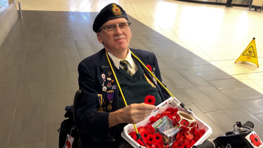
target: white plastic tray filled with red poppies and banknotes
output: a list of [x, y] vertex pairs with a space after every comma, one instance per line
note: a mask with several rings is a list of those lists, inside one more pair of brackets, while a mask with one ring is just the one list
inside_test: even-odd
[[[175, 98], [171, 97], [156, 106], [156, 109], [145, 120], [136, 124], [146, 148], [191, 148], [193, 145], [203, 143], [212, 134], [211, 127], [191, 111], [189, 112], [197, 123], [194, 127], [188, 121], [180, 120], [178, 113], [186, 111], [181, 106], [177, 108], [170, 106], [172, 99]], [[149, 98], [146, 97], [145, 101], [147, 100]], [[124, 127], [122, 137], [134, 148], [145, 147], [143, 141], [137, 139], [133, 124]]]

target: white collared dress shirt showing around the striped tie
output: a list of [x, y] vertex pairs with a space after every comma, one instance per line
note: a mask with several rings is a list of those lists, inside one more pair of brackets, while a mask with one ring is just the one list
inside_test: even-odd
[[112, 59], [114, 65], [116, 68], [122, 68], [123, 69], [123, 66], [120, 64], [120, 61], [122, 60], [126, 60], [127, 61], [127, 64], [128, 64], [128, 68], [130, 70], [130, 72], [134, 75], [135, 72], [138, 70], [138, 65], [136, 65], [133, 61], [133, 58], [131, 58], [131, 50], [129, 49], [129, 52], [126, 56], [125, 59], [118, 59], [117, 57], [115, 57], [113, 54], [107, 52], [109, 57]]

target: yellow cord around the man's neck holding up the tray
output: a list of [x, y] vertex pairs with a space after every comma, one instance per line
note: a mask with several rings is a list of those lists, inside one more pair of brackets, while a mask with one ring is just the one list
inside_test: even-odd
[[[147, 71], [159, 82], [159, 84], [161, 84], [161, 86], [163, 86], [163, 88], [174, 98], [174, 96], [170, 93], [170, 91], [159, 81], [158, 78], [156, 78], [156, 76], [143, 64], [143, 62], [141, 62], [141, 60], [138, 57], [136, 57], [136, 55], [134, 55], [132, 52], [131, 52], [131, 54], [144, 66], [144, 68], [147, 69]], [[120, 89], [120, 93], [122, 94], [122, 98], [123, 98], [124, 104], [125, 104], [125, 106], [128, 106], [127, 103], [126, 103], [126, 100], [124, 98], [124, 95], [122, 93], [122, 89], [120, 88], [119, 81], [118, 81], [118, 79], [117, 79], [117, 77], [115, 75], [115, 72], [114, 72], [113, 68], [112, 68], [112, 64], [110, 63], [110, 59], [109, 59], [107, 51], [106, 51], [106, 56], [107, 56], [107, 59], [108, 59], [109, 64], [110, 64], [110, 68], [112, 69], [112, 73], [114, 75], [115, 81], [117, 82], [117, 85], [118, 85], [118, 87]], [[135, 129], [136, 133], [138, 134], [139, 132], [138, 132], [138, 129], [137, 129], [136, 125], [133, 124], [133, 126], [134, 126], [134, 129]]]

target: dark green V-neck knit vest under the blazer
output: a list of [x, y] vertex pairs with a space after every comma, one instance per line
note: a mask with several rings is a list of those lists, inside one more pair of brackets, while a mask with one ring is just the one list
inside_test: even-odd
[[[155, 97], [155, 106], [161, 104], [162, 99], [158, 89], [148, 82], [144, 75], [144, 70], [135, 60], [134, 63], [138, 65], [138, 70], [133, 76], [130, 76], [122, 68], [116, 69], [117, 79], [127, 105], [143, 103], [144, 98], [148, 95]], [[121, 93], [119, 93], [119, 105], [120, 109], [125, 107]]]

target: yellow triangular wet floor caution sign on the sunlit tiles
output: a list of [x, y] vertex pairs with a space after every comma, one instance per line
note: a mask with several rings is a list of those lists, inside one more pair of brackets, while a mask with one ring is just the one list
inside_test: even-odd
[[236, 62], [239, 62], [239, 61], [251, 62], [251, 63], [256, 64], [257, 67], [259, 67], [259, 62], [257, 61], [257, 48], [256, 48], [255, 39], [256, 38], [253, 38], [251, 40], [247, 48], [241, 53], [241, 55], [236, 60]]

